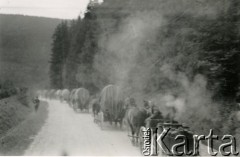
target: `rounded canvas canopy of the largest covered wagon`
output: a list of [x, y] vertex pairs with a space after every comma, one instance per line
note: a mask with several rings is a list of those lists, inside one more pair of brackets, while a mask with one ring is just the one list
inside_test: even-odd
[[101, 109], [103, 112], [108, 110], [112, 116], [117, 117], [123, 110], [123, 100], [121, 89], [116, 85], [108, 85], [103, 88], [101, 93]]

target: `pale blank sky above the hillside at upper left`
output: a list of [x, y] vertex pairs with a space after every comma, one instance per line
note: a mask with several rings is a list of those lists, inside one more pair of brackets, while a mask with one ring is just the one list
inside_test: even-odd
[[21, 14], [74, 19], [85, 12], [89, 0], [0, 0], [0, 14]]

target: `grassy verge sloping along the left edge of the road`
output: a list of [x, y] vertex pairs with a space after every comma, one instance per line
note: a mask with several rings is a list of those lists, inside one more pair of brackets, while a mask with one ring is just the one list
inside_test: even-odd
[[23, 155], [41, 129], [48, 116], [48, 103], [41, 101], [37, 112], [31, 113], [26, 120], [0, 139], [1, 155]]

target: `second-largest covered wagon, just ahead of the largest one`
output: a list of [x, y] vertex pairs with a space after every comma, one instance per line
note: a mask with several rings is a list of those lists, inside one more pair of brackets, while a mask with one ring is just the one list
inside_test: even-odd
[[78, 88], [74, 93], [74, 109], [84, 109], [88, 110], [89, 108], [90, 94], [85, 88]]

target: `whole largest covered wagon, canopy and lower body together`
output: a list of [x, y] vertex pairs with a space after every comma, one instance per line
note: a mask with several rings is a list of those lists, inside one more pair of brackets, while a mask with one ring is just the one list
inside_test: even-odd
[[124, 112], [123, 93], [116, 85], [103, 88], [100, 100], [104, 121], [122, 123]]

